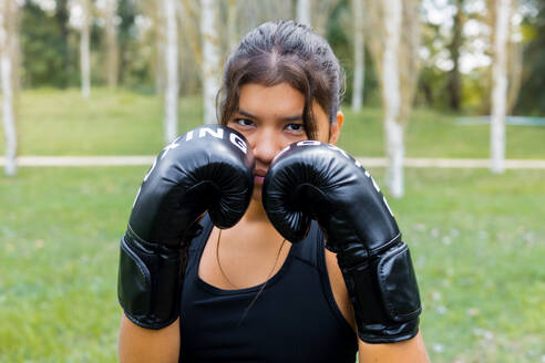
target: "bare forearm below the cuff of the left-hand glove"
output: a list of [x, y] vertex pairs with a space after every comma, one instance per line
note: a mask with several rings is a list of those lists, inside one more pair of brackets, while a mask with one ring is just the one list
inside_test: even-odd
[[121, 363], [177, 362], [179, 355], [179, 319], [171, 325], [145, 329], [121, 319], [119, 354]]

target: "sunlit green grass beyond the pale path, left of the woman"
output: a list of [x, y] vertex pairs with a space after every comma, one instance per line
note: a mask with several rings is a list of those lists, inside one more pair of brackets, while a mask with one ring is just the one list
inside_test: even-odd
[[[93, 89], [84, 100], [79, 90], [30, 90], [18, 111], [20, 155], [155, 155], [165, 144], [158, 96]], [[181, 100], [181, 131], [202, 118], [198, 98]]]

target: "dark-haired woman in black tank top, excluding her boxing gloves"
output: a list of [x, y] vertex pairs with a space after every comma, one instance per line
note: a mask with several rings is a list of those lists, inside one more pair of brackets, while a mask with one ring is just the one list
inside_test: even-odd
[[335, 144], [343, 73], [329, 44], [291, 21], [250, 31], [225, 66], [220, 122], [243, 134], [255, 157], [255, 186], [240, 221], [223, 231], [203, 220], [189, 248], [181, 319], [160, 330], [125, 315], [122, 362], [424, 362], [420, 333], [387, 344], [358, 339], [336, 255], [316, 224], [296, 245], [261, 204], [275, 156], [305, 139]]

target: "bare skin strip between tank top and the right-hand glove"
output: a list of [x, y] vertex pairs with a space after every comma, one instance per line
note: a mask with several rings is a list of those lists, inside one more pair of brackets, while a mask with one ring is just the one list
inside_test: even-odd
[[347, 286], [345, 279], [342, 278], [342, 272], [337, 262], [337, 255], [325, 249], [326, 257], [326, 268], [329, 276], [329, 283], [331, 284], [331, 291], [333, 293], [335, 302], [339, 308], [342, 317], [348, 321], [350, 326], [356, 332], [356, 320], [353, 317], [353, 308], [350, 302], [350, 297], [348, 294]]

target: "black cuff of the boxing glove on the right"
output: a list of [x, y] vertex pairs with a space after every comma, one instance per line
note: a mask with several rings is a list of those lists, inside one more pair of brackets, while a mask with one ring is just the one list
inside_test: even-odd
[[418, 333], [422, 308], [409, 247], [404, 242], [371, 257], [361, 245], [352, 245], [337, 258], [361, 340], [392, 343]]

